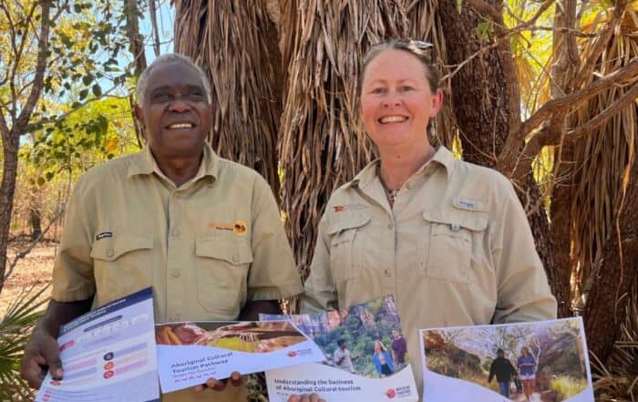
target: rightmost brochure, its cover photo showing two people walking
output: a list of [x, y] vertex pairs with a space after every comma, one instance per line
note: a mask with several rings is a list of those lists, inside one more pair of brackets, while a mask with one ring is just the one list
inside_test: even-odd
[[425, 401], [593, 402], [581, 317], [419, 330]]

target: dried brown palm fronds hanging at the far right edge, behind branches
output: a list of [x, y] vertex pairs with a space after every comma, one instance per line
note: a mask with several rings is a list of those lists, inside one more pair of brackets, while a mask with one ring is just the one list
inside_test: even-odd
[[[622, 35], [612, 36], [607, 51], [602, 53], [598, 63], [600, 75], [608, 75], [638, 56], [638, 40], [634, 36], [638, 27], [633, 21], [631, 13], [627, 13], [623, 20]], [[587, 57], [589, 48], [591, 46], [585, 48], [582, 57]], [[576, 111], [570, 125], [577, 127], [586, 124], [630, 88], [612, 87], [590, 99]], [[592, 277], [597, 253], [602, 252], [608, 239], [616, 237], [616, 219], [623, 200], [623, 174], [634, 163], [636, 132], [637, 108], [635, 104], [630, 104], [601, 128], [593, 129], [575, 144], [574, 160], [578, 169], [571, 176], [574, 189], [571, 216], [578, 295], [586, 291], [584, 287]]]

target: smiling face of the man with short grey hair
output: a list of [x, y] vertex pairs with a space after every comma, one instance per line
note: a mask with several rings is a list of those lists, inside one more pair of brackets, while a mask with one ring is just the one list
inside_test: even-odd
[[201, 156], [211, 130], [212, 108], [195, 68], [179, 61], [155, 67], [135, 114], [159, 163]]

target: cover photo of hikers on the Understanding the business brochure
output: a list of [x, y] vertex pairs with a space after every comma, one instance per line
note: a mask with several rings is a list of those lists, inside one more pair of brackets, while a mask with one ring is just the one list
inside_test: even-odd
[[406, 339], [391, 296], [322, 314], [260, 315], [289, 318], [324, 352], [327, 366], [369, 378], [384, 378], [409, 363]]

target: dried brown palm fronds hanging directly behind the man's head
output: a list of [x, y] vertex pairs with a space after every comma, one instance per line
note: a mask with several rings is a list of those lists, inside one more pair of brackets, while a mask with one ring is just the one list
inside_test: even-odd
[[192, 57], [211, 78], [213, 149], [259, 171], [277, 191], [280, 60], [266, 2], [175, 0], [174, 5], [175, 51]]

